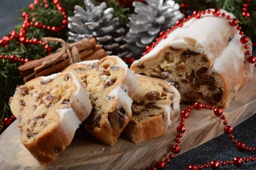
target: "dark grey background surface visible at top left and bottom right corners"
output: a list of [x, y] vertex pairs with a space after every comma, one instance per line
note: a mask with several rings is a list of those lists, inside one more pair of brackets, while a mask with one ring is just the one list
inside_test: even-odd
[[[17, 10], [28, 6], [30, 3], [33, 3], [33, 0], [0, 0], [0, 38], [12, 31], [14, 26], [20, 22], [12, 19], [20, 16]], [[235, 127], [233, 134], [238, 141], [243, 141], [248, 146], [256, 147], [256, 114]], [[218, 161], [233, 160], [234, 156], [250, 157], [256, 156], [256, 153], [253, 151], [251, 153], [238, 151], [236, 145], [231, 142], [227, 135], [223, 134], [172, 159], [170, 164], [166, 164], [166, 170], [181, 170], [188, 167], [189, 164], [205, 164], [214, 159]], [[226, 165], [220, 169], [256, 170], [256, 161], [244, 163], [239, 168], [234, 165]]]

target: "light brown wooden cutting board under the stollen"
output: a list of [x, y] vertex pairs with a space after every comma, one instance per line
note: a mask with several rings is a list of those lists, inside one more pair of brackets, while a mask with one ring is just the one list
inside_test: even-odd
[[[224, 111], [229, 125], [235, 127], [256, 113], [256, 71], [253, 79], [239, 90], [230, 107]], [[181, 110], [187, 105], [181, 105]], [[20, 143], [17, 121], [13, 122], [0, 136], [0, 169], [76, 169], [76, 170], [125, 170], [145, 169], [163, 160], [171, 153], [176, 139], [176, 126], [168, 128], [163, 136], [132, 143], [122, 134], [113, 147], [98, 142], [90, 133], [80, 127], [72, 143], [60, 153], [55, 161], [42, 167]], [[186, 132], [181, 138], [180, 154], [191, 150], [221, 135], [224, 125], [213, 111], [202, 109], [191, 111], [185, 122]], [[228, 136], [227, 136], [228, 137]]]

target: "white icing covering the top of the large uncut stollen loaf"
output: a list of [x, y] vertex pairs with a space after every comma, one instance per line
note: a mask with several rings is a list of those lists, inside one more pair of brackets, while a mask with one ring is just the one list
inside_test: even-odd
[[[221, 9], [221, 12], [230, 15], [231, 18], [235, 18], [233, 14], [225, 10]], [[206, 13], [201, 15], [201, 18], [199, 19], [192, 18], [186, 23], [183, 23], [181, 28], [177, 28], [168, 34], [166, 39], [161, 40], [156, 47], [154, 47], [148, 54], [145, 54], [143, 58], [134, 61], [132, 66], [142, 64], [143, 62], [154, 58], [162, 49], [172, 46], [173, 48], [186, 47], [192, 51], [207, 54], [206, 57], [212, 64], [214, 63], [213, 65], [215, 66], [212, 72], [223, 73], [224, 71], [227, 71], [225, 70], [227, 67], [215, 65], [217, 63], [223, 65], [223, 63], [227, 62], [228, 65], [233, 65], [235, 70], [238, 70], [239, 65], [237, 64], [237, 61], [244, 60], [244, 54], [241, 54], [241, 49], [244, 50], [243, 45], [238, 43], [241, 36], [237, 36], [236, 34], [236, 37], [230, 41], [230, 44], [224, 49], [221, 56], [214, 56], [210, 52], [210, 49], [212, 48], [211, 43], [219, 41], [220, 38], [223, 37], [223, 35], [227, 35], [231, 29], [234, 29], [237, 31], [237, 34], [239, 34], [239, 31], [236, 30], [235, 27], [230, 26], [226, 17], [221, 17], [221, 15], [219, 17], [214, 17], [212, 14]], [[229, 52], [228, 55], [227, 51]], [[231, 55], [230, 52], [236, 55]]]

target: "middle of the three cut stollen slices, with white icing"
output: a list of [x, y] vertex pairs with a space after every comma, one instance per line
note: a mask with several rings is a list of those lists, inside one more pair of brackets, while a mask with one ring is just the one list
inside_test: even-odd
[[112, 146], [131, 117], [131, 103], [139, 85], [137, 78], [119, 57], [73, 64], [63, 72], [73, 72], [90, 93], [93, 110], [84, 127]]

